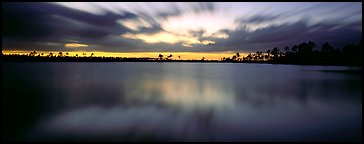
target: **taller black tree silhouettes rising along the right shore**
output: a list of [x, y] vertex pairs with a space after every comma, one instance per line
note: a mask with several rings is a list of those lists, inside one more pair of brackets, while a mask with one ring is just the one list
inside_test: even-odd
[[221, 61], [361, 66], [362, 41], [357, 45], [347, 44], [343, 48], [334, 48], [327, 42], [319, 48], [314, 42], [308, 41], [291, 47], [286, 46], [282, 50], [274, 47], [266, 52], [256, 51], [242, 58], [236, 53], [231, 58], [221, 58]]

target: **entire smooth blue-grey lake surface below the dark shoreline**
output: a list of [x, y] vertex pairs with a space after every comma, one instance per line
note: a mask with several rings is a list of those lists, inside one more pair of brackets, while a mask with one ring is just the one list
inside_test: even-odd
[[362, 141], [351, 67], [3, 63], [2, 137], [26, 141]]

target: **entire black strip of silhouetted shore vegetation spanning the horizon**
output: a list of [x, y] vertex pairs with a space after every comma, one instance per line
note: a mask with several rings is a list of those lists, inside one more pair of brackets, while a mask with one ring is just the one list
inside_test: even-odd
[[[266, 52], [257, 51], [241, 57], [240, 53], [230, 57], [223, 57], [220, 60], [182, 60], [181, 56], [174, 58], [172, 54], [164, 56], [159, 54], [157, 58], [125, 58], [125, 57], [100, 57], [94, 53], [82, 56], [76, 54], [70, 56], [68, 52], [58, 54], [30, 52], [26, 55], [2, 53], [2, 60], [6, 62], [234, 62], [234, 63], [272, 63], [272, 64], [303, 64], [303, 65], [362, 65], [362, 41], [359, 44], [347, 44], [339, 49], [334, 48], [329, 43], [324, 43], [320, 48], [314, 42], [304, 42], [292, 47], [279, 49], [275, 47]], [[173, 59], [174, 58], [174, 59]]]

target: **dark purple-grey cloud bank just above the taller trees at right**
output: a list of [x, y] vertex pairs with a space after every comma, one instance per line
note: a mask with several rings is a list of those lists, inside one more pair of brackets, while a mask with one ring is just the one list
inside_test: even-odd
[[357, 43], [362, 39], [362, 32], [355, 29], [360, 25], [361, 22], [342, 27], [338, 27], [340, 25], [336, 24], [324, 23], [308, 26], [307, 20], [302, 19], [296, 23], [273, 25], [254, 32], [242, 28], [230, 31], [228, 39], [216, 40], [216, 44], [210, 47], [208, 51], [266, 51], [273, 47], [282, 49], [285, 46], [293, 46], [305, 41], [316, 42], [319, 47], [324, 42], [329, 42], [337, 48], [341, 48], [347, 43]]

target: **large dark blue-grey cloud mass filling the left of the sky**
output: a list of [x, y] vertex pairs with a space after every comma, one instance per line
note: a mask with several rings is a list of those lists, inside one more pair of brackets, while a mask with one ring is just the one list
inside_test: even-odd
[[107, 13], [92, 15], [47, 3], [4, 3], [2, 14], [3, 49], [64, 50], [63, 39], [97, 44], [108, 35], [120, 35], [129, 30], [116, 23], [119, 19], [137, 16]]

